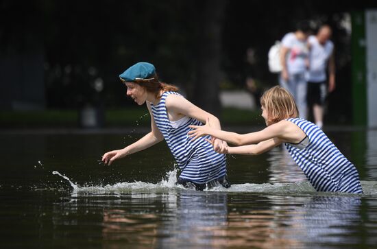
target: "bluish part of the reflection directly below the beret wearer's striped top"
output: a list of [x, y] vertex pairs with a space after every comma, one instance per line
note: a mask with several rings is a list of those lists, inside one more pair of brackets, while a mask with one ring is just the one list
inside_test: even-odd
[[187, 245], [220, 246], [219, 239], [228, 216], [227, 193], [182, 191], [177, 198], [173, 219], [165, 221], [158, 246], [182, 247]]

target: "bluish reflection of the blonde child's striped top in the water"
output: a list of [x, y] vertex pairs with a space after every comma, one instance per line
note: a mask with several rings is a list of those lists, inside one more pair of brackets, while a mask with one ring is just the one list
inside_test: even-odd
[[300, 215], [292, 216], [288, 223], [294, 227], [289, 237], [307, 246], [317, 245], [317, 248], [330, 244], [358, 244], [358, 238], [349, 239], [348, 235], [356, 233], [355, 224], [361, 220], [360, 204], [358, 197], [313, 197], [295, 209]]

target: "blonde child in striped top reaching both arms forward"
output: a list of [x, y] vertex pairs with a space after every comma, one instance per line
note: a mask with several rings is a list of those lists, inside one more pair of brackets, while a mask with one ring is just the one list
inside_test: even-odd
[[[289, 154], [304, 171], [317, 191], [363, 193], [356, 167], [348, 161], [326, 134], [314, 123], [299, 118], [295, 101], [286, 89], [274, 86], [260, 98], [262, 117], [267, 128], [248, 134], [237, 134], [205, 126], [190, 126], [194, 140], [210, 135], [236, 147], [216, 149], [228, 154], [256, 155], [284, 143]], [[243, 146], [241, 146], [243, 145]]]

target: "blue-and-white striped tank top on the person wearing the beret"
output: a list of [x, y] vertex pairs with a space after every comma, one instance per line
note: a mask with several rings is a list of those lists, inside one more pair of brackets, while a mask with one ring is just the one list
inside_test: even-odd
[[215, 152], [212, 145], [204, 140], [210, 137], [200, 137], [191, 141], [187, 134], [191, 130], [189, 126], [202, 126], [202, 122], [189, 117], [181, 126], [172, 126], [165, 106], [165, 99], [170, 94], [180, 95], [173, 91], [162, 93], [160, 102], [156, 106], [151, 103], [151, 110], [158, 129], [182, 170], [180, 178], [204, 184], [225, 176], [226, 156]]

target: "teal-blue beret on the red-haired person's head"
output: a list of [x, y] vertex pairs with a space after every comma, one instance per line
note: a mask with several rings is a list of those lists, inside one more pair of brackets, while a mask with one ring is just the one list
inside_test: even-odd
[[121, 78], [121, 81], [125, 82], [132, 82], [138, 79], [148, 79], [148, 78], [154, 78], [154, 75], [156, 74], [156, 69], [154, 68], [154, 65], [148, 63], [148, 62], [138, 62], [134, 64], [132, 67], [121, 73], [119, 75], [119, 78]]

